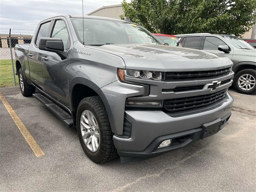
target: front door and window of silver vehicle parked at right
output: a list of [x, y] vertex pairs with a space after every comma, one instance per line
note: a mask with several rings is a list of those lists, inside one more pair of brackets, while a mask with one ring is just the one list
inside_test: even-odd
[[[218, 50], [218, 46], [227, 45], [230, 48], [230, 53], [224, 53]], [[232, 48], [226, 44], [223, 40], [215, 36], [204, 36], [202, 50], [211, 52], [214, 54], [225, 54], [226, 57], [232, 59]]]

